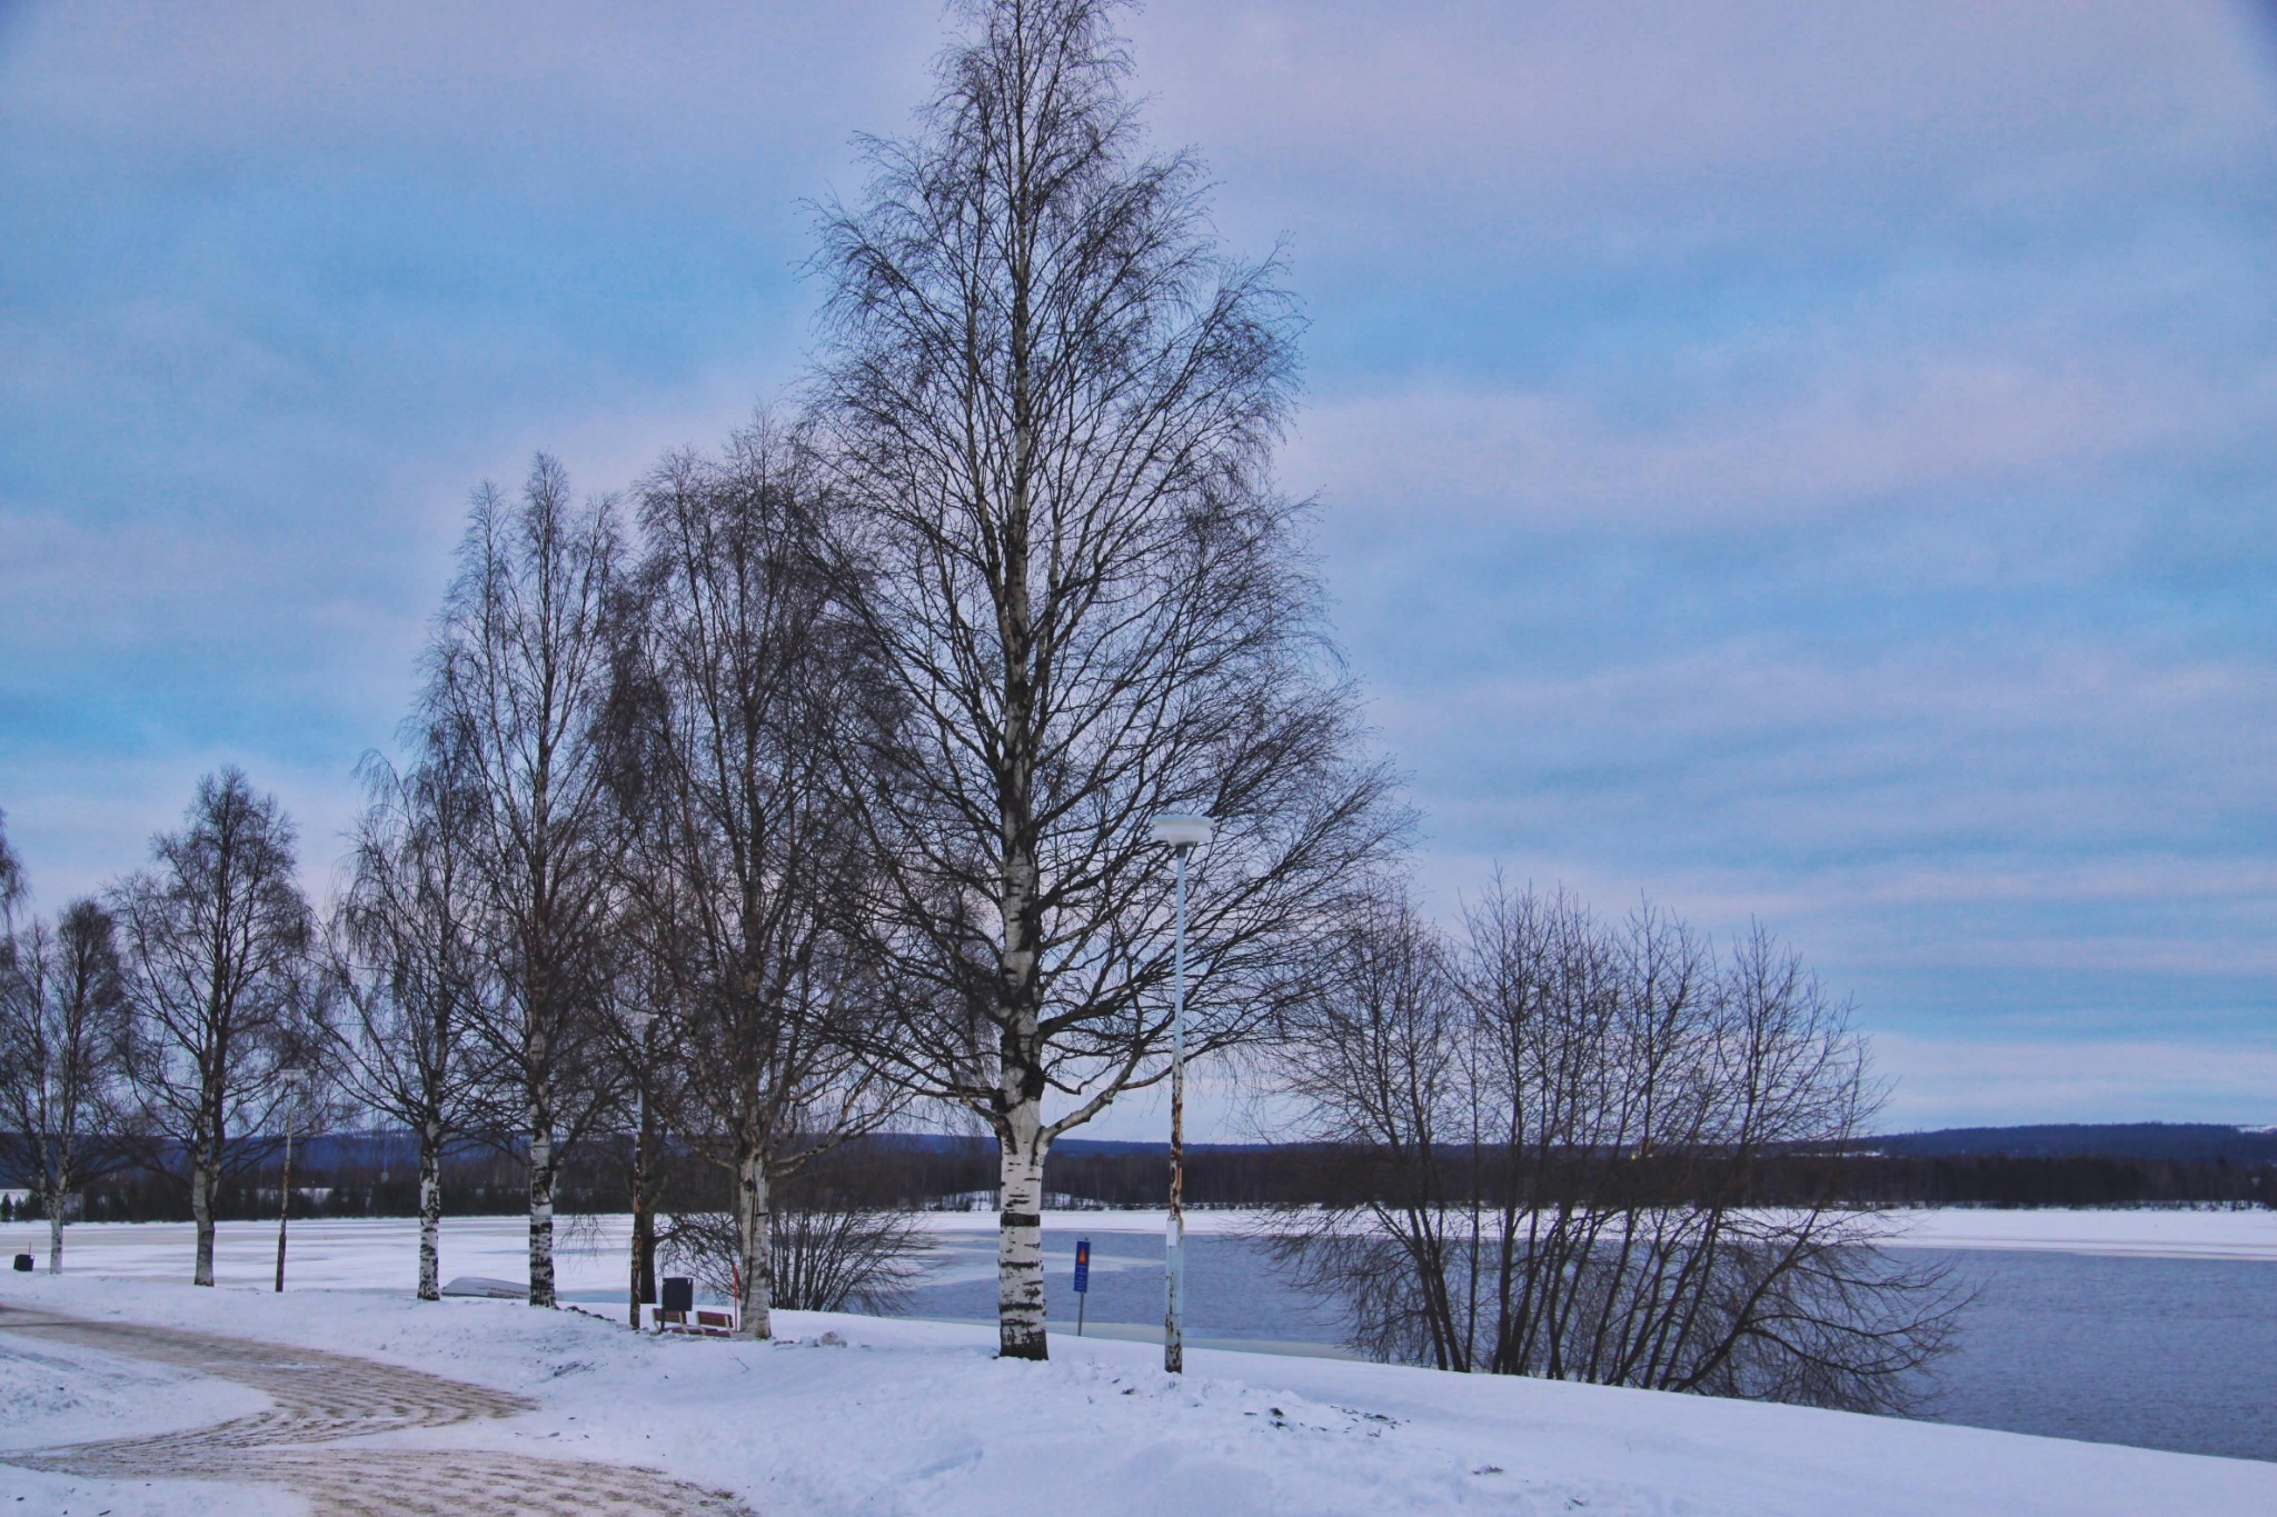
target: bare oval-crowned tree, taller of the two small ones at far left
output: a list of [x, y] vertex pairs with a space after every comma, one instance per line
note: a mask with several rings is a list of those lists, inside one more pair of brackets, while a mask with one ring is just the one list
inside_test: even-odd
[[180, 832], [109, 894], [132, 1012], [128, 1078], [150, 1160], [189, 1187], [196, 1283], [214, 1283], [214, 1194], [260, 1162], [305, 1051], [312, 923], [294, 828], [244, 771], [198, 782]]

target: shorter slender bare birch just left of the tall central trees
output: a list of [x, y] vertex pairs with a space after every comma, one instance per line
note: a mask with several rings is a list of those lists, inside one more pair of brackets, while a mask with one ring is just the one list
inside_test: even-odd
[[471, 857], [480, 796], [433, 737], [408, 773], [385, 762], [367, 771], [353, 876], [330, 930], [339, 994], [321, 1023], [339, 1085], [419, 1144], [421, 1301], [442, 1299], [442, 1155], [476, 1121], [485, 1064], [471, 1028], [494, 996]]

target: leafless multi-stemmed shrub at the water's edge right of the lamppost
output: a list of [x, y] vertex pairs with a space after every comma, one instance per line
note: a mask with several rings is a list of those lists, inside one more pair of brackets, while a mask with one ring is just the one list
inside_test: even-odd
[[1444, 951], [1394, 905], [1289, 1030], [1305, 1135], [1366, 1201], [1291, 1217], [1280, 1258], [1380, 1358], [1892, 1410], [1951, 1333], [1963, 1296], [1872, 1212], [1760, 1194], [1879, 1101], [1849, 1008], [1762, 930], [1717, 955], [1496, 885]]

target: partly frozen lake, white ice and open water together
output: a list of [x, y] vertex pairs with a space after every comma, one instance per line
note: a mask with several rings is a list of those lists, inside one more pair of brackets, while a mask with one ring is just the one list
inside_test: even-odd
[[[938, 1249], [909, 1310], [990, 1319], [995, 1235], [986, 1215], [929, 1217]], [[1334, 1319], [1312, 1310], [1239, 1237], [1243, 1219], [1205, 1212], [1186, 1242], [1189, 1342], [1339, 1356]], [[560, 1294], [597, 1312], [624, 1305], [624, 1219], [565, 1226]], [[1075, 1328], [1075, 1240], [1091, 1240], [1086, 1331], [1161, 1333], [1161, 1221], [1148, 1212], [1057, 1212], [1045, 1226], [1054, 1333]], [[417, 1224], [303, 1221], [291, 1287], [410, 1292]], [[9, 1253], [46, 1265], [46, 1230], [0, 1228]], [[1913, 1246], [1954, 1260], [1979, 1290], [1942, 1365], [1938, 1421], [2086, 1437], [2181, 1453], [2277, 1460], [2277, 1217], [2200, 1212], [1940, 1212]], [[526, 1278], [526, 1221], [444, 1221], [444, 1278]], [[73, 1274], [187, 1280], [187, 1224], [75, 1226]], [[269, 1285], [276, 1224], [223, 1224], [223, 1285]]]

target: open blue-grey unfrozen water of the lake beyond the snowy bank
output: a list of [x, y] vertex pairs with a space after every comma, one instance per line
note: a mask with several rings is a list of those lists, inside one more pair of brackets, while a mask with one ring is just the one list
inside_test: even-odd
[[[1091, 1237], [1086, 1326], [1161, 1335], [1161, 1237], [1047, 1228], [1052, 1331], [1075, 1331], [1075, 1240]], [[1913, 1258], [1915, 1251], [1908, 1251]], [[1926, 1412], [2011, 1433], [2277, 1460], [2277, 1265], [1951, 1251], [1976, 1290]], [[995, 1237], [950, 1233], [909, 1301], [995, 1317]], [[1239, 1237], [1186, 1240], [1186, 1342], [1339, 1353], [1334, 1315]]]

